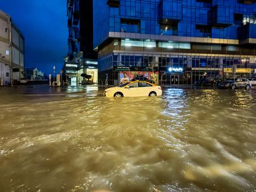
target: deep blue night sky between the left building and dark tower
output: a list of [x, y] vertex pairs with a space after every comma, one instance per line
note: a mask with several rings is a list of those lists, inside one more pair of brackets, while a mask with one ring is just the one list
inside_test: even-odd
[[59, 73], [68, 53], [66, 0], [0, 0], [0, 9], [25, 37], [25, 68], [48, 75], [55, 65]]

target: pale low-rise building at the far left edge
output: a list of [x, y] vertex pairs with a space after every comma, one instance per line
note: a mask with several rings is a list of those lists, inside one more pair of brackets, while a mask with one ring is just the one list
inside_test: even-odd
[[0, 10], [0, 86], [24, 77], [24, 44], [10, 15]]

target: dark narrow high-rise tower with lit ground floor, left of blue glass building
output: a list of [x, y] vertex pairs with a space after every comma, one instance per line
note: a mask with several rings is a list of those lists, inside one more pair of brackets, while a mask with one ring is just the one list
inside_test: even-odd
[[92, 76], [98, 82], [97, 52], [93, 49], [92, 0], [67, 0], [68, 54], [64, 58], [64, 77], [71, 86], [83, 84], [81, 74]]

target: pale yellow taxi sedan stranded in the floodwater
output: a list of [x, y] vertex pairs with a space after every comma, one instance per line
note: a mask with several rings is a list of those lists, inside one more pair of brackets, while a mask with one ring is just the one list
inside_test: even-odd
[[141, 97], [162, 95], [160, 86], [156, 86], [146, 81], [126, 82], [119, 87], [111, 87], [105, 90], [106, 97]]

